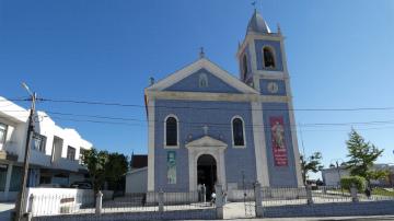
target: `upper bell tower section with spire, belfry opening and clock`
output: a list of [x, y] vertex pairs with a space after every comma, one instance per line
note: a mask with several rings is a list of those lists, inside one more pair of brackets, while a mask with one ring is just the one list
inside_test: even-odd
[[[254, 10], [246, 35], [236, 54], [240, 79], [262, 95], [286, 95], [287, 65], [280, 27], [271, 32], [263, 16]], [[279, 81], [281, 80], [281, 81]]]

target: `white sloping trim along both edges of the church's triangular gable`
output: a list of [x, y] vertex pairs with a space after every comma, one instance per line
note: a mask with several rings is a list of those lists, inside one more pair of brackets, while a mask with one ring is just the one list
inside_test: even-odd
[[147, 91], [163, 91], [166, 88], [175, 84], [176, 82], [179, 82], [181, 80], [187, 78], [188, 75], [195, 73], [196, 71], [198, 71], [202, 68], [208, 70], [210, 73], [218, 77], [219, 79], [221, 79], [229, 85], [235, 88], [236, 90], [239, 90], [242, 93], [258, 94], [257, 91], [255, 91], [251, 86], [246, 85], [245, 83], [243, 83], [242, 81], [240, 81], [239, 79], [236, 79], [235, 77], [233, 77], [229, 72], [224, 71], [223, 69], [221, 69], [220, 67], [218, 67], [217, 65], [215, 65], [213, 62], [211, 62], [210, 60], [208, 60], [206, 58], [200, 58], [197, 61], [195, 61], [194, 63], [176, 71], [175, 73], [172, 73], [167, 78], [147, 88], [146, 93], [147, 93]]

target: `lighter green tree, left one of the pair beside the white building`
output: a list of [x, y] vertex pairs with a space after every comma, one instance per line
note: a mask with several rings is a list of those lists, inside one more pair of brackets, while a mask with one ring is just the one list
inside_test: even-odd
[[105, 166], [107, 161], [108, 152], [97, 151], [95, 148], [86, 150], [82, 154], [82, 163], [88, 167], [94, 193], [97, 193], [105, 182]]

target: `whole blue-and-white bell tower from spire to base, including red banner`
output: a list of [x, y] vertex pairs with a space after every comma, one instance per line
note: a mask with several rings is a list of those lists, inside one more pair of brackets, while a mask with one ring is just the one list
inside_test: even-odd
[[279, 25], [271, 32], [254, 10], [236, 54], [240, 80], [260, 93], [253, 104], [257, 177], [271, 187], [303, 185], [283, 40]]

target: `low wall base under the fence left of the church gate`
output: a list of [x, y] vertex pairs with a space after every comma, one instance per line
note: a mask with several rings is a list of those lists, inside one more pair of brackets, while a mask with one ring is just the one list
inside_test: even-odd
[[215, 220], [216, 209], [175, 210], [165, 212], [116, 212], [103, 214], [63, 214], [50, 217], [34, 217], [33, 221], [124, 221], [124, 220]]

